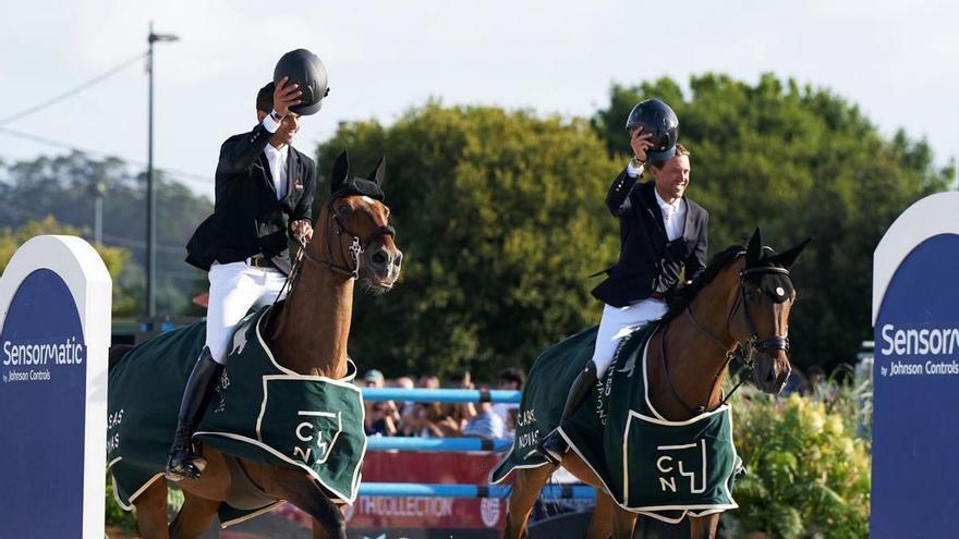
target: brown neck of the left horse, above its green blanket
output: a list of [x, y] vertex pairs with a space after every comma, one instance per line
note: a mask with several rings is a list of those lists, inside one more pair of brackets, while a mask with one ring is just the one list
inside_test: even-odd
[[[325, 242], [325, 231], [316, 231], [315, 237]], [[270, 348], [288, 369], [343, 378], [352, 316], [353, 280], [304, 260], [295, 287], [278, 317]]]

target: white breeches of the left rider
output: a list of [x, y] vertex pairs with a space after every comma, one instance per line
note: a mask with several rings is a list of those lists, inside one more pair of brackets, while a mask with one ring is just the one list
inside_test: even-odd
[[[242, 261], [213, 265], [209, 270], [206, 345], [218, 364], [226, 365], [233, 330], [250, 307], [259, 309], [272, 304], [286, 280], [279, 270], [255, 268]], [[286, 291], [283, 295], [287, 295]]]

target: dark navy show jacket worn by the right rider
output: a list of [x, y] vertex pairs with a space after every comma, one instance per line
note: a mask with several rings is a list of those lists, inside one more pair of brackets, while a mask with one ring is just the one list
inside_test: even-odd
[[619, 218], [619, 261], [599, 272], [608, 277], [593, 289], [593, 296], [612, 307], [626, 307], [653, 294], [667, 296], [683, 267], [687, 280], [706, 267], [709, 213], [683, 196], [682, 235], [669, 242], [655, 184], [638, 184], [636, 180], [623, 170], [606, 195], [606, 206]]

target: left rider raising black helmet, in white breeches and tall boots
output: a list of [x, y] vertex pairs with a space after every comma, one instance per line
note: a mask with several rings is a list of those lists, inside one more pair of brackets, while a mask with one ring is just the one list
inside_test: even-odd
[[289, 236], [313, 236], [316, 164], [292, 147], [301, 117], [316, 113], [328, 93], [316, 54], [296, 49], [280, 58], [256, 96], [253, 131], [220, 147], [216, 204], [186, 244], [186, 261], [209, 272], [206, 345], [186, 382], [165, 476], [197, 478], [206, 461], [193, 433], [227, 362], [230, 339], [250, 307], [271, 304], [290, 272]]

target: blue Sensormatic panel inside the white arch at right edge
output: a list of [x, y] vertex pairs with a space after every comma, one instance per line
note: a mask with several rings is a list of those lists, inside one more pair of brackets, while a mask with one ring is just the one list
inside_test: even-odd
[[873, 538], [959, 536], [959, 235], [899, 265], [875, 324]]

